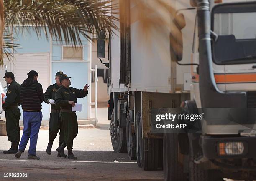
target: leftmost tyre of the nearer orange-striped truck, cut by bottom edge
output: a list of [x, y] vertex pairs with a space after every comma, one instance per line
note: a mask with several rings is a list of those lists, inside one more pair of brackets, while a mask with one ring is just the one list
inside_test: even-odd
[[183, 155], [179, 153], [177, 133], [164, 133], [163, 162], [165, 181], [188, 181], [183, 169]]

